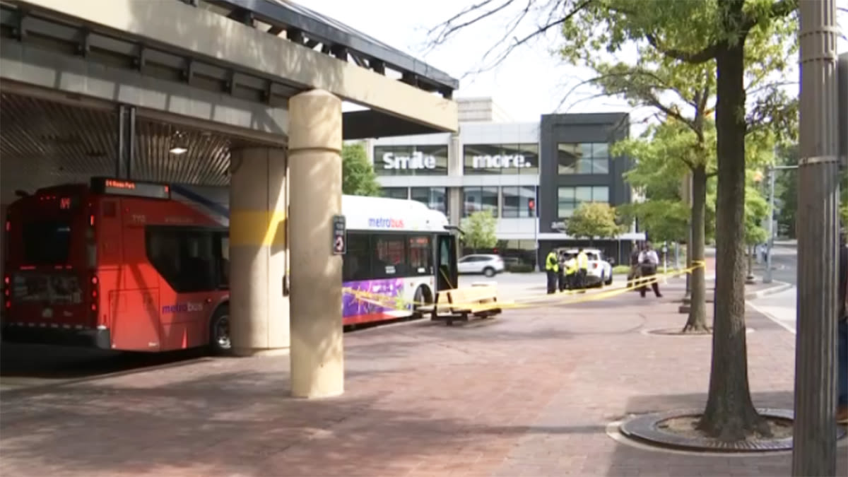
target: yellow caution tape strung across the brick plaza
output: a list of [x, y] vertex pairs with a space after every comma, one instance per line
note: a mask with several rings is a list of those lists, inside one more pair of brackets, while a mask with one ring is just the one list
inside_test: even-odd
[[[650, 278], [633, 278], [633, 285], [619, 287], [614, 289], [608, 289], [602, 291], [600, 293], [586, 294], [586, 289], [577, 289], [577, 290], [565, 290], [563, 292], [559, 292], [556, 294], [544, 294], [538, 296], [527, 297], [525, 299], [513, 300], [510, 302], [486, 302], [481, 303], [479, 301], [471, 301], [471, 302], [455, 302], [455, 303], [439, 303], [436, 305], [435, 303], [427, 303], [422, 301], [414, 301], [414, 300], [404, 300], [398, 296], [392, 295], [382, 295], [367, 292], [364, 290], [357, 290], [351, 288], [343, 288], [343, 293], [347, 295], [354, 295], [356, 300], [371, 303], [373, 305], [382, 306], [385, 308], [393, 309], [393, 310], [410, 310], [415, 306], [436, 306], [437, 308], [461, 308], [464, 310], [468, 310], [471, 312], [478, 311], [487, 311], [487, 310], [505, 310], [505, 309], [518, 309], [518, 308], [530, 308], [533, 306], [551, 306], [551, 305], [567, 305], [574, 303], [583, 303], [587, 301], [595, 301], [602, 300], [605, 298], [610, 298], [616, 295], [623, 295], [629, 291], [633, 291], [635, 289], [639, 289], [641, 287], [650, 286], [652, 283], [656, 283], [663, 278], [669, 277], [677, 277], [679, 275], [687, 274], [694, 272], [699, 268], [706, 267], [706, 261], [693, 261], [692, 267], [683, 268], [680, 270], [674, 270], [672, 272], [665, 273], [657, 273], [652, 275]], [[441, 290], [441, 293], [447, 292], [450, 290]], [[572, 300], [572, 297], [578, 295], [576, 299]]]

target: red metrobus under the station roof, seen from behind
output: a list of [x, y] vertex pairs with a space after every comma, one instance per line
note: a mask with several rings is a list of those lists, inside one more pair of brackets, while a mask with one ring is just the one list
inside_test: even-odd
[[170, 192], [94, 177], [9, 205], [3, 340], [228, 349], [227, 227]]

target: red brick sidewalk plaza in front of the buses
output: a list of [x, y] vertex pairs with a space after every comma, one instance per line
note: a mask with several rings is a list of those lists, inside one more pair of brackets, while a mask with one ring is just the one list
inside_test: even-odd
[[[185, 366], [3, 395], [3, 475], [789, 475], [786, 453], [650, 452], [628, 413], [701, 407], [709, 336], [671, 337], [677, 297], [507, 311], [346, 334], [347, 391], [287, 397], [287, 358]], [[792, 407], [794, 337], [748, 324], [756, 405]], [[840, 449], [839, 474], [848, 473]]]

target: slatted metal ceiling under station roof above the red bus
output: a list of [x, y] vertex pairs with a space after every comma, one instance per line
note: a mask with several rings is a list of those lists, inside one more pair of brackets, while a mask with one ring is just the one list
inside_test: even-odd
[[[17, 189], [92, 176], [114, 176], [118, 154], [117, 110], [88, 109], [42, 98], [0, 93], [0, 201]], [[226, 186], [233, 137], [160, 121], [136, 123], [132, 178]], [[238, 141], [243, 145], [243, 141]], [[179, 145], [185, 154], [171, 154]]]

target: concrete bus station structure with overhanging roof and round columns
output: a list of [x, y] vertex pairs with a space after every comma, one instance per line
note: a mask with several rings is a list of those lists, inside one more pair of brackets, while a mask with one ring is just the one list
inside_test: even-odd
[[0, 35], [3, 212], [93, 176], [229, 188], [233, 351], [342, 393], [342, 141], [455, 132], [458, 82], [275, 0], [3, 3]]

